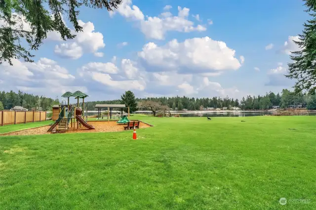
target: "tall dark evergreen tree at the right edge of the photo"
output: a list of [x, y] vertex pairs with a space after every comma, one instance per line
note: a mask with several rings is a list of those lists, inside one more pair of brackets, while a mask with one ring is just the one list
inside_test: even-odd
[[288, 64], [289, 73], [286, 77], [297, 79], [295, 90], [307, 90], [311, 94], [316, 90], [316, 0], [304, 0], [312, 17], [304, 23], [304, 31], [299, 35], [299, 41], [294, 41], [302, 50], [292, 52], [293, 63]]

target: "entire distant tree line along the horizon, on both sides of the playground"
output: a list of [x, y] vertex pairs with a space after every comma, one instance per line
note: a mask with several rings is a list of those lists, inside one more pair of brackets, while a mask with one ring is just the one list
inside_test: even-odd
[[[246, 96], [242, 97], [239, 102], [238, 99], [233, 99], [229, 97], [213, 97], [213, 98], [190, 98], [190, 97], [159, 97], [159, 98], [135, 98], [134, 93], [131, 91], [126, 91], [120, 100], [109, 100], [109, 101], [92, 101], [86, 102], [85, 107], [88, 110], [96, 110], [94, 106], [96, 104], [125, 104], [130, 107], [130, 111], [136, 111], [138, 109], [148, 109], [149, 107], [146, 103], [140, 104], [140, 102], [156, 102], [155, 109], [158, 110], [159, 105], [162, 105], [163, 109], [166, 107], [172, 108], [173, 110], [202, 110], [203, 108], [213, 107], [223, 108], [227, 107], [239, 107], [244, 110], [259, 110], [259, 109], [269, 109], [273, 106], [280, 106], [280, 108], [288, 107], [307, 107], [309, 109], [316, 109], [316, 97], [310, 94], [297, 93], [295, 91], [290, 91], [288, 89], [283, 89], [281, 94], [269, 92], [266, 95], [259, 96]], [[44, 96], [34, 96], [32, 94], [23, 93], [18, 91], [15, 93], [10, 92], [0, 92], [0, 110], [10, 109], [13, 106], [20, 105], [27, 109], [37, 109], [41, 107], [41, 110], [50, 110], [51, 106], [54, 104], [59, 104], [59, 100], [51, 98], [46, 98]], [[146, 105], [146, 106], [145, 106]], [[151, 109], [153, 103], [150, 104]], [[80, 103], [82, 106], [82, 103]]]

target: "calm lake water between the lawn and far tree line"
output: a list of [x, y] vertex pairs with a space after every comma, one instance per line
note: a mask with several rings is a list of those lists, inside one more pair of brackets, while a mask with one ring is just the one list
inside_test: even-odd
[[[151, 111], [136, 111], [136, 113], [151, 114]], [[249, 117], [271, 115], [273, 111], [170, 111], [171, 116], [179, 114], [180, 117]], [[168, 112], [166, 112], [168, 114]]]

